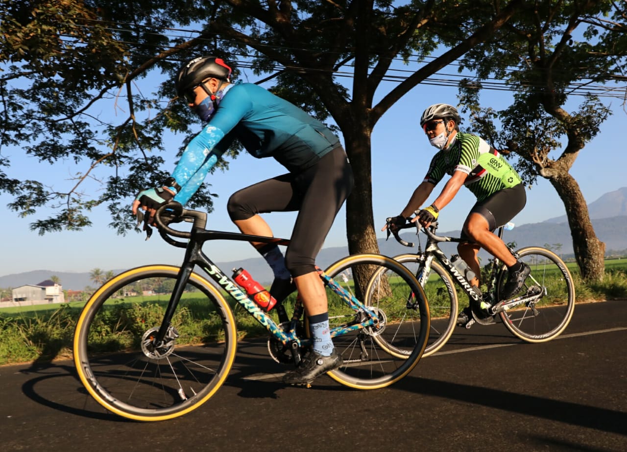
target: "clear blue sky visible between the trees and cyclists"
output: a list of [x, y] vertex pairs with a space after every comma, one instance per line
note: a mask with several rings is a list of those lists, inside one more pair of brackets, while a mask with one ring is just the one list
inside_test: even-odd
[[[251, 80], [255, 80], [251, 76]], [[149, 82], [145, 81], [146, 84]], [[140, 86], [144, 91], [152, 91], [155, 86]], [[386, 92], [391, 86], [383, 87]], [[380, 229], [387, 216], [397, 215], [406, 205], [414, 188], [424, 177], [435, 148], [431, 147], [418, 125], [419, 116], [426, 106], [445, 102], [457, 104], [457, 90], [454, 87], [421, 85], [404, 96], [403, 100], [387, 111], [377, 123], [372, 133], [372, 190], [375, 229], [377, 237], [385, 237]], [[575, 97], [579, 102], [583, 98]], [[503, 108], [507, 106], [506, 91], [485, 91], [482, 95], [484, 106]], [[624, 152], [624, 131], [627, 113], [621, 101], [612, 102], [614, 115], [601, 126], [601, 133], [579, 153], [571, 169], [571, 175], [577, 180], [587, 203], [591, 203], [607, 192], [627, 186], [624, 168], [627, 167], [627, 153]], [[466, 123], [467, 123], [467, 118]], [[198, 123], [198, 130], [201, 124]], [[462, 126], [463, 130], [463, 126]], [[179, 146], [182, 136], [169, 138], [171, 155]], [[11, 177], [28, 177], [40, 180], [47, 185], [55, 185], [60, 190], [73, 186], [71, 175], [84, 171], [86, 165], [74, 167], [71, 162], [56, 165], [41, 165], [31, 157], [26, 157], [19, 149], [4, 148], [2, 153], [10, 157]], [[552, 158], [557, 158], [555, 153]], [[208, 227], [216, 230], [235, 231], [226, 214], [226, 201], [231, 193], [239, 188], [273, 177], [284, 172], [275, 160], [258, 160], [243, 153], [231, 162], [228, 172], [216, 172], [209, 175], [208, 182], [213, 185], [213, 192], [219, 194], [214, 201], [214, 212], [209, 215]], [[173, 165], [167, 168], [174, 169]], [[96, 173], [96, 176], [98, 173]], [[446, 178], [445, 178], [446, 180]], [[440, 192], [445, 180], [436, 187], [428, 203]], [[85, 191], [95, 194], [98, 184], [90, 182]], [[0, 205], [6, 206], [11, 201], [7, 195], [0, 195]], [[131, 199], [128, 202], [132, 202]], [[460, 229], [468, 210], [475, 198], [467, 189], [462, 188], [457, 197], [440, 214], [440, 230]], [[527, 206], [514, 218], [517, 225], [542, 222], [548, 218], [564, 215], [564, 205], [552, 185], [540, 179], [531, 190], [527, 191]], [[167, 245], [155, 234], [149, 241], [144, 235], [130, 233], [125, 237], [115, 234], [107, 227], [110, 222], [105, 207], [92, 213], [95, 225], [82, 232], [61, 232], [46, 234], [43, 237], [29, 230], [29, 223], [43, 215], [36, 214], [27, 218], [18, 218], [16, 213], [5, 210], [1, 229], [4, 236], [0, 260], [0, 276], [27, 272], [30, 270], [50, 270], [55, 272], [88, 272], [96, 267], [103, 270], [126, 269], [143, 264], [179, 264], [182, 250]], [[273, 228], [276, 237], [289, 237], [295, 214], [270, 213], [266, 221]], [[570, 237], [565, 237], [570, 240]], [[345, 213], [340, 211], [335, 220], [325, 247], [342, 246], [346, 243]], [[241, 242], [210, 242], [206, 251], [218, 262], [256, 257], [250, 245]]]

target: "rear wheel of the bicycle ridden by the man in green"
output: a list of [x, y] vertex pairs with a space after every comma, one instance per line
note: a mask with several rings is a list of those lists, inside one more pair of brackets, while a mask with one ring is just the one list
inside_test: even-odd
[[[515, 297], [522, 296], [527, 301], [500, 312], [500, 317], [507, 329], [523, 341], [550, 341], [566, 329], [575, 309], [571, 272], [556, 254], [547, 249], [527, 247], [518, 253], [519, 260], [529, 265], [531, 272]], [[497, 276], [499, 291], [506, 280], [507, 267], [503, 267]]]

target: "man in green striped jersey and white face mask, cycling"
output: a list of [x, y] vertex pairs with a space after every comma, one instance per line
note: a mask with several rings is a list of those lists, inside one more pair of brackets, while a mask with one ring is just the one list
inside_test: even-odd
[[[520, 290], [530, 269], [527, 264], [512, 256], [503, 240], [493, 234], [493, 231], [514, 218], [525, 207], [527, 196], [524, 184], [514, 168], [495, 148], [477, 135], [461, 133], [459, 124], [460, 115], [454, 106], [440, 103], [424, 110], [420, 125], [429, 138], [429, 143], [439, 151], [431, 160], [426, 177], [418, 185], [406, 207], [400, 215], [393, 218], [391, 227], [403, 225], [413, 213], [416, 213], [413, 222], [418, 221], [428, 227], [438, 218], [440, 210], [465, 186], [477, 197], [477, 203], [468, 213], [461, 232], [461, 237], [467, 241], [461, 242], [457, 247], [460, 257], [475, 273], [475, 277], [469, 282], [474, 286], [480, 284], [478, 253], [483, 248], [508, 267], [508, 279], [502, 292], [503, 298], [507, 299]], [[440, 195], [428, 207], [420, 208], [445, 174], [451, 178]], [[487, 317], [487, 312], [481, 305], [473, 299], [470, 302], [470, 308], [475, 315]], [[470, 318], [472, 314], [466, 310], [461, 313], [458, 321], [465, 323]]]

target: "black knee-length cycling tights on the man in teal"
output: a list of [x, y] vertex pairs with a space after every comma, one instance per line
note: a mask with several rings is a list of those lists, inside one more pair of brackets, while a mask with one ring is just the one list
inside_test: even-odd
[[353, 183], [346, 153], [337, 147], [302, 172], [273, 177], [233, 193], [227, 208], [231, 220], [298, 211], [285, 251], [285, 266], [297, 277], [315, 271], [315, 257]]

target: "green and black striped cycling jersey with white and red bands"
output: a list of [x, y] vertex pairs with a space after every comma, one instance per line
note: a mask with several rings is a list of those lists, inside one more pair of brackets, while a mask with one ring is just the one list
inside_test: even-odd
[[453, 175], [455, 171], [468, 175], [464, 185], [478, 201], [522, 182], [518, 173], [495, 148], [472, 133], [458, 132], [448, 148], [433, 156], [424, 182], [437, 185], [445, 174]]

